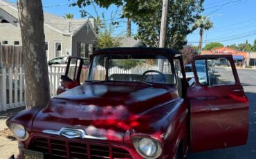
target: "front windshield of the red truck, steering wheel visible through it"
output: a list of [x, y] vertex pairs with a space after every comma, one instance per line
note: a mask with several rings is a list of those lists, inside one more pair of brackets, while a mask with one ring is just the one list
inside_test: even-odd
[[175, 84], [172, 65], [163, 55], [98, 55], [89, 81], [125, 81]]

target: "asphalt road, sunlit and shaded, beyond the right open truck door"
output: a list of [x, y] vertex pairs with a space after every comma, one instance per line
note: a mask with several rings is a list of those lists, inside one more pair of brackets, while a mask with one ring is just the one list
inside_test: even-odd
[[240, 82], [250, 100], [248, 144], [189, 154], [186, 159], [255, 159], [256, 158], [256, 70], [237, 69]]

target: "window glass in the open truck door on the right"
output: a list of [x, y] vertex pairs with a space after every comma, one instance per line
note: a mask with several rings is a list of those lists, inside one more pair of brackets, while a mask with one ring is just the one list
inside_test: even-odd
[[235, 77], [226, 58], [199, 59], [195, 61], [199, 83], [208, 86], [235, 84]]

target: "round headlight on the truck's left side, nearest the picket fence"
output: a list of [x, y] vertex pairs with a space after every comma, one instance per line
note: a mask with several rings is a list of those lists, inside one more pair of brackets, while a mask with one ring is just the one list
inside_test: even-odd
[[9, 128], [17, 139], [22, 141], [28, 139], [28, 132], [21, 124], [10, 124]]

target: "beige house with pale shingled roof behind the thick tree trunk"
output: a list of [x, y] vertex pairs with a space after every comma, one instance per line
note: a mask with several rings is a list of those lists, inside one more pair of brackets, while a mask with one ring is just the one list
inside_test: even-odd
[[[93, 18], [64, 19], [44, 12], [47, 59], [67, 55], [89, 57], [95, 50], [97, 30]], [[22, 45], [17, 6], [3, 0], [0, 0], [0, 42]]]

